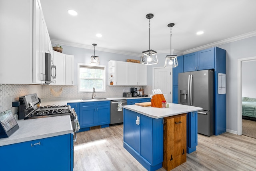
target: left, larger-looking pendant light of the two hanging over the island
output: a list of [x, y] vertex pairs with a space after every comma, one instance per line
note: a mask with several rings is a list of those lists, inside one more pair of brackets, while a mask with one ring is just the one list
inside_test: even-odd
[[149, 50], [143, 51], [142, 52], [142, 57], [141, 57], [141, 62], [142, 64], [145, 65], [153, 65], [153, 64], [158, 64], [157, 56], [156, 56], [156, 51], [150, 50], [150, 19], [153, 18], [153, 14], [147, 14], [146, 18], [149, 19]]

